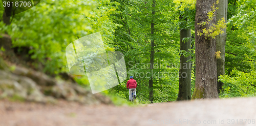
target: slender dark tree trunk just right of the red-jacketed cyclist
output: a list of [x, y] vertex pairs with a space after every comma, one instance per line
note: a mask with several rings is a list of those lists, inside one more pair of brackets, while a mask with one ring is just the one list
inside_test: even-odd
[[[152, 5], [153, 8], [156, 7], [156, 1], [154, 0], [153, 1], [153, 5]], [[154, 44], [154, 34], [155, 34], [155, 23], [154, 23], [154, 15], [155, 15], [155, 9], [152, 10], [152, 16], [153, 16], [153, 19], [152, 19], [152, 22], [151, 22], [151, 53], [150, 53], [150, 69], [151, 71], [153, 71], [154, 69], [154, 55], [155, 55], [155, 44]], [[153, 103], [153, 75], [151, 76], [150, 78], [150, 81], [148, 83], [149, 85], [149, 88], [150, 88], [150, 101], [151, 103]]]

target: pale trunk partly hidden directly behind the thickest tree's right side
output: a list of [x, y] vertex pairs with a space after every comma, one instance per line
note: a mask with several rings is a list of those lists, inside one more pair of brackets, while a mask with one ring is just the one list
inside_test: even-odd
[[[219, 8], [217, 10], [217, 21], [221, 20], [221, 18], [225, 18], [225, 21], [227, 22], [227, 5], [228, 5], [228, 0], [219, 0], [220, 3], [217, 5]], [[216, 37], [216, 50], [221, 52], [221, 58], [217, 59], [217, 75], [218, 78], [220, 75], [225, 74], [225, 46], [226, 46], [226, 28], [223, 29], [224, 33], [221, 35], [218, 35]], [[219, 81], [217, 82], [217, 89], [218, 93], [220, 93], [220, 90], [222, 89], [223, 82]]]

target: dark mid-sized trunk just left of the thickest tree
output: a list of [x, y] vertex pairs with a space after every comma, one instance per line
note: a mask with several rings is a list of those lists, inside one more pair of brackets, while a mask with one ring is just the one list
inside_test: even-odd
[[[182, 19], [182, 17], [180, 17]], [[191, 38], [190, 29], [182, 28], [180, 25], [180, 51], [189, 51], [191, 49], [191, 39], [182, 41], [183, 38]], [[191, 99], [191, 56], [185, 57], [183, 54], [180, 56], [180, 72], [179, 72], [179, 94], [177, 101]]]

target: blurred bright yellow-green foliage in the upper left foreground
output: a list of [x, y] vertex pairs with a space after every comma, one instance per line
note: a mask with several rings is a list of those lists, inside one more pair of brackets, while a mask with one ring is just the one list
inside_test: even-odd
[[108, 0], [44, 0], [34, 8], [14, 15], [9, 26], [1, 21], [0, 27], [3, 33], [7, 31], [11, 36], [13, 47], [30, 47], [31, 58], [40, 61], [45, 72], [57, 74], [68, 71], [65, 48], [77, 37], [101, 31], [104, 41], [113, 40], [116, 25], [109, 15], [116, 10], [112, 6], [115, 4]]

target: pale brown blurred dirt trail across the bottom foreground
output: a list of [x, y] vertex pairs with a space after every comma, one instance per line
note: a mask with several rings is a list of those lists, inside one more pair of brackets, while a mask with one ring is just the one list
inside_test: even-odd
[[0, 126], [256, 125], [255, 119], [256, 98], [197, 100], [138, 107], [82, 106], [64, 101], [58, 105], [0, 101]]

